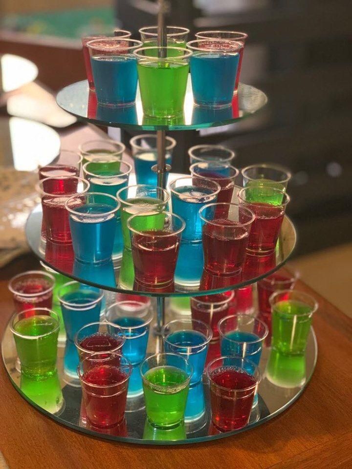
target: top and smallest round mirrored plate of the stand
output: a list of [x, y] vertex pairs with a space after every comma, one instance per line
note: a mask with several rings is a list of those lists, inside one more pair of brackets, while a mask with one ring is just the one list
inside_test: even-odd
[[184, 112], [177, 118], [163, 119], [144, 116], [139, 88], [133, 106], [99, 105], [95, 92], [89, 91], [87, 80], [66, 86], [57, 94], [56, 100], [64, 110], [92, 124], [133, 130], [190, 130], [224, 126], [254, 114], [267, 102], [263, 91], [240, 83], [230, 107], [221, 109], [200, 107], [193, 101], [190, 77], [187, 83]]

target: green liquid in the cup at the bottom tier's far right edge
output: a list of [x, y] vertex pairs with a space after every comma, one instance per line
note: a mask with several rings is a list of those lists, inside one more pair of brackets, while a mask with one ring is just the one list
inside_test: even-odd
[[307, 346], [311, 307], [301, 301], [283, 300], [272, 310], [272, 347], [286, 355], [303, 355]]

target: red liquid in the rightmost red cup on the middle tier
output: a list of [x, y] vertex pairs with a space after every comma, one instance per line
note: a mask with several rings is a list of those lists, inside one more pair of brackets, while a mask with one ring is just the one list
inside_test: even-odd
[[268, 253], [275, 250], [285, 211], [281, 206], [265, 203], [251, 205], [256, 217], [252, 224], [247, 249]]

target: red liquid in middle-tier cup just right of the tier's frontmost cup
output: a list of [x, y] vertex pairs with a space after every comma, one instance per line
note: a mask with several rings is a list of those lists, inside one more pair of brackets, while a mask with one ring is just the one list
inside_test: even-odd
[[235, 274], [242, 268], [248, 232], [235, 221], [217, 218], [212, 221], [226, 226], [204, 224], [204, 269], [218, 275]]

